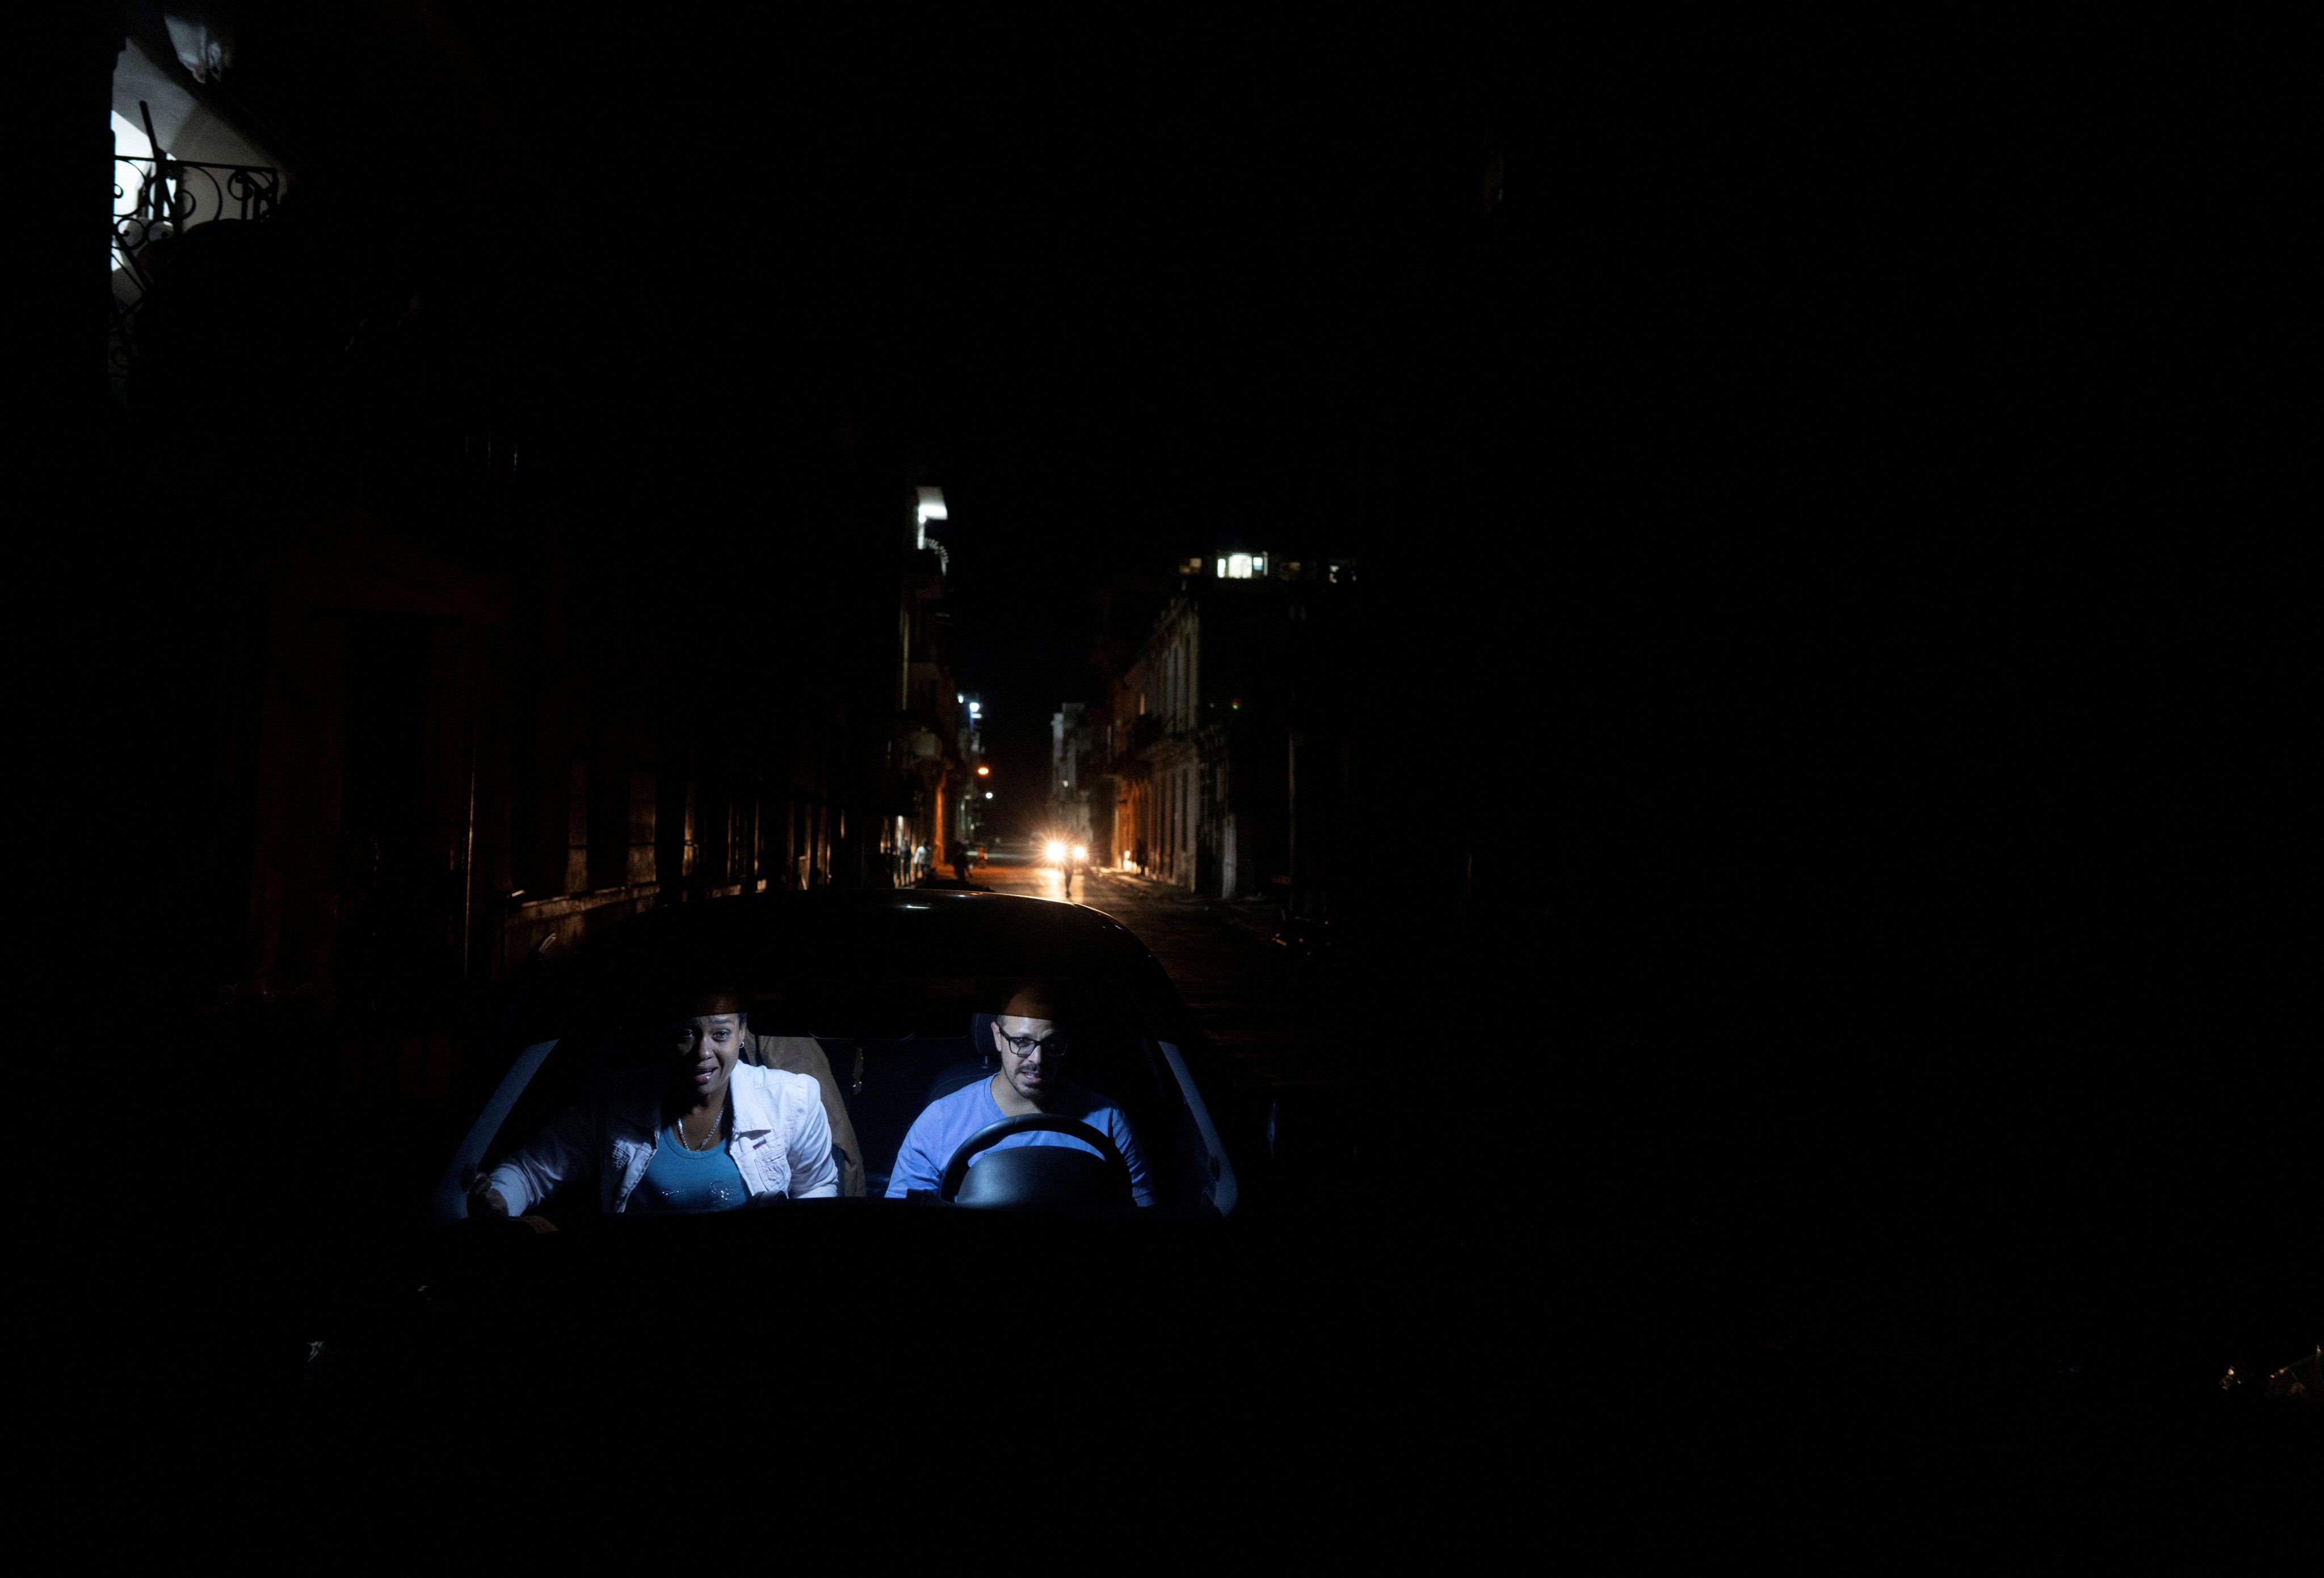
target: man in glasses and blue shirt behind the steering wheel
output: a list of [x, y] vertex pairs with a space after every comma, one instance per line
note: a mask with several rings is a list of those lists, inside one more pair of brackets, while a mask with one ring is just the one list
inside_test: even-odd
[[[983, 1053], [995, 1064], [992, 1076], [930, 1102], [927, 1111], [913, 1120], [911, 1132], [904, 1134], [904, 1148], [897, 1150], [895, 1171], [888, 1176], [888, 1199], [902, 1199], [911, 1190], [934, 1190], [953, 1153], [985, 1127], [1025, 1113], [1050, 1113], [1074, 1118], [1109, 1136], [1129, 1164], [1129, 1197], [1141, 1206], [1155, 1204], [1146, 1178], [1146, 1155], [1139, 1150], [1139, 1136], [1129, 1129], [1129, 1118], [1099, 1092], [1076, 1085], [1062, 1074], [1069, 1053], [1057, 1023], [1055, 995], [1039, 983], [1018, 985], [1009, 992], [1002, 1013], [990, 1020], [988, 1037], [990, 1043]], [[1097, 1155], [1088, 1141], [1050, 1129], [1011, 1134], [992, 1150], [1013, 1146], [1074, 1146]], [[990, 1150], [981, 1155], [990, 1155]], [[969, 1164], [974, 1167], [976, 1160]]]

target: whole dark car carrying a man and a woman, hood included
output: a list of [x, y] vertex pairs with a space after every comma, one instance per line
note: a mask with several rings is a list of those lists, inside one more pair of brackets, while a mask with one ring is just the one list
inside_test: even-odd
[[[974, 1134], [937, 1188], [890, 1197], [913, 1118], [990, 1074], [976, 1032], [1027, 978], [1067, 1004], [1067, 1076], [1129, 1118], [1150, 1206], [1132, 1204], [1104, 1136], [1062, 1125], [1097, 1143], [1025, 1143], [1025, 1118]], [[741, 995], [746, 1062], [818, 1078], [839, 1197], [607, 1213], [588, 1181], [514, 1222], [469, 1220], [481, 1171], [597, 1081], [667, 1060], [669, 1004], [706, 985]], [[1281, 1262], [1239, 1227], [1267, 1188], [1264, 1109], [1232, 1099], [1143, 944], [1085, 906], [916, 888], [655, 911], [544, 964], [504, 1041], [425, 1225], [367, 1255], [318, 1322], [316, 1406], [428, 1413], [479, 1387], [546, 1406], [648, 1385], [723, 1343], [837, 1357], [802, 1385], [841, 1390], [895, 1385], [874, 1355], [985, 1339], [1057, 1376], [1153, 1373], [1167, 1355], [1183, 1380], [1215, 1357], [1232, 1308], [1264, 1297], [1236, 1267]]]

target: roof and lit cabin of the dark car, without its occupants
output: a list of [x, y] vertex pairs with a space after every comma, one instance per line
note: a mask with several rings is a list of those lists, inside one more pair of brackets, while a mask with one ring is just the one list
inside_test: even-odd
[[[751, 895], [641, 916], [562, 962], [532, 1039], [437, 1183], [432, 1215], [467, 1215], [481, 1169], [530, 1141], [593, 1083], [667, 1057], [669, 1004], [704, 985], [739, 990], [744, 1062], [811, 1074], [837, 1136], [844, 1199], [885, 1199], [920, 1111], [992, 1074], [990, 1018], [1018, 981], [1067, 1006], [1067, 1078], [1113, 1099], [1139, 1134], [1167, 1215], [1229, 1215], [1241, 1197], [1213, 1106], [1225, 1085], [1153, 955], [1106, 916], [1071, 904], [944, 890]], [[1220, 1106], [1225, 1111], [1225, 1106]], [[1018, 1118], [962, 1146], [937, 1204], [1064, 1208], [1129, 1202], [1111, 1143], [1004, 1146]], [[995, 1150], [990, 1162], [983, 1150]], [[971, 1162], [985, 1162], [974, 1167]], [[1083, 1167], [1085, 1164], [1085, 1167]], [[590, 1190], [551, 1199], [544, 1220], [597, 1213]], [[806, 1202], [802, 1202], [806, 1204]]]

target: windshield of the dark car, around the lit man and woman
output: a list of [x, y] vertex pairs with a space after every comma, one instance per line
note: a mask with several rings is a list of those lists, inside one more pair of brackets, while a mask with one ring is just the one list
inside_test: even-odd
[[[741, 1062], [818, 1076], [827, 1104], [837, 1102], [853, 1129], [851, 1136], [841, 1129], [834, 1146], [844, 1150], [841, 1141], [853, 1139], [858, 1150], [834, 1157], [848, 1176], [844, 1195], [860, 1190], [881, 1199], [904, 1134], [930, 1102], [992, 1078], [997, 1060], [981, 1046], [978, 1030], [990, 1025], [1023, 978], [786, 964], [779, 981], [744, 976], [720, 990], [732, 990], [746, 1013]], [[1215, 1141], [1206, 1143], [1206, 1118], [1197, 1116], [1202, 1097], [1185, 1076], [1183, 1055], [1157, 1039], [1132, 992], [1088, 971], [1046, 971], [1039, 981], [1071, 1004], [1060, 1011], [1067, 1046], [1060, 1071], [1129, 1120], [1155, 1206], [1232, 1208], [1232, 1183], [1220, 1190]], [[539, 1057], [486, 1141], [481, 1167], [500, 1164], [625, 1071], [667, 1064], [672, 995], [700, 985], [655, 969], [595, 971], [579, 992], [569, 1030]], [[848, 1167], [851, 1160], [855, 1167]], [[597, 1208], [595, 1185], [567, 1185], [537, 1213], [569, 1220]]]

